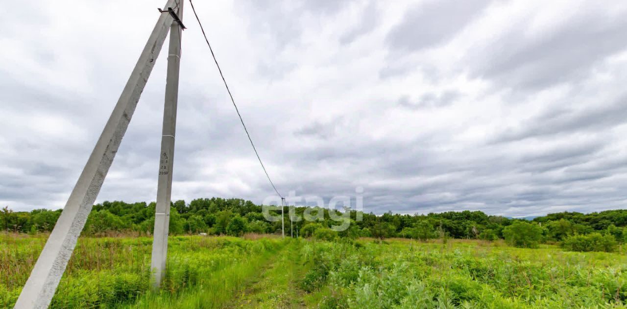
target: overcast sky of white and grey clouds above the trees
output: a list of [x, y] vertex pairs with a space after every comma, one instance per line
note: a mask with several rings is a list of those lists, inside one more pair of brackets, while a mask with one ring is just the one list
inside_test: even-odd
[[[165, 1], [14, 1], [0, 19], [0, 206], [60, 208]], [[279, 191], [366, 211], [627, 205], [625, 1], [201, 1]], [[172, 199], [265, 179], [189, 3]], [[167, 43], [166, 43], [167, 44]], [[97, 202], [154, 201], [162, 50]]]

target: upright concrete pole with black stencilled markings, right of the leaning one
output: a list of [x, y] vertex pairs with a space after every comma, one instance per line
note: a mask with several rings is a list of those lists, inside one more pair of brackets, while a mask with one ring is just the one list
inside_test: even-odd
[[161, 286], [166, 271], [167, 236], [170, 225], [170, 201], [172, 193], [172, 167], [174, 165], [174, 135], [176, 134], [176, 106], [179, 97], [179, 65], [181, 63], [181, 33], [183, 0], [178, 1], [175, 13], [178, 21], [172, 21], [170, 46], [167, 56], [166, 100], [163, 110], [161, 135], [161, 160], [159, 161], [159, 183], [157, 184], [157, 206], [155, 207], [155, 229], [152, 241], [150, 269], [154, 271], [152, 286]]

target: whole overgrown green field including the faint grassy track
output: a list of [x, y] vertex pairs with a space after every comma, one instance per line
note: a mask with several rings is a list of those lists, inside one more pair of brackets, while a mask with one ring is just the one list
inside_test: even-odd
[[[0, 234], [0, 308], [45, 235]], [[627, 256], [502, 241], [176, 236], [150, 293], [150, 238], [80, 238], [51, 308], [626, 308]]]

